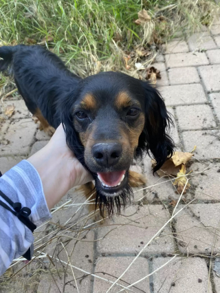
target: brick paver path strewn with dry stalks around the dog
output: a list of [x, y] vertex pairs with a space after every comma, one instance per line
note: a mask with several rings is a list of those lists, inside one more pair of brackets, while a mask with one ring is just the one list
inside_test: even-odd
[[[178, 149], [192, 151], [197, 145], [188, 165], [188, 171], [192, 170], [191, 187], [175, 213], [183, 210], [142, 251], [118, 283], [129, 286], [177, 255], [161, 270], [131, 287], [131, 292], [220, 292], [220, 21], [214, 22], [210, 32], [204, 30], [188, 41], [168, 43], [154, 66], [162, 71], [157, 85], [175, 118], [172, 135]], [[2, 124], [0, 133], [3, 173], [49, 140], [37, 129], [23, 100], [9, 98], [4, 105], [12, 102], [16, 112]], [[179, 199], [171, 182], [166, 182], [168, 178], [153, 177], [149, 158], [135, 169], [146, 175], [147, 186], [154, 186], [144, 191], [136, 189], [133, 204], [120, 217], [97, 222], [98, 216], [88, 217], [87, 208], [80, 208], [85, 201], [80, 192], [69, 191], [58, 206], [69, 199], [72, 205], [54, 213], [52, 221], [35, 233], [38, 247], [62, 232], [62, 227], [72, 226], [43, 250], [52, 256], [53, 263], [47, 257], [33, 261], [14, 276], [8, 288], [0, 284], [0, 291], [16, 292], [25, 284], [27, 292], [107, 292], [170, 219], [174, 209], [170, 202]], [[74, 268], [73, 276], [68, 268], [64, 274], [67, 254], [71, 264], [83, 271]], [[14, 266], [14, 272], [22, 265]], [[65, 289], [63, 283], [67, 284]], [[110, 292], [121, 289], [115, 285]]]

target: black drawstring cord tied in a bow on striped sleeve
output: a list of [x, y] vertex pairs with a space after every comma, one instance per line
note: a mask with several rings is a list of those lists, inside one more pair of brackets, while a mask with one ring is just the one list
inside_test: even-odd
[[[1, 176], [2, 176], [2, 174], [0, 171], [0, 177]], [[3, 199], [5, 199], [5, 202], [8, 202], [8, 204], [10, 204], [10, 206], [12, 206], [12, 208], [14, 208], [14, 210], [12, 210], [12, 208], [10, 208], [7, 204], [2, 202], [1, 200], [0, 200], [0, 206], [3, 206], [3, 208], [5, 208], [6, 210], [9, 210], [13, 215], [18, 217], [19, 220], [23, 224], [25, 224], [25, 226], [27, 226], [32, 232], [34, 232], [34, 230], [36, 229], [36, 225], [34, 225], [32, 223], [32, 221], [30, 221], [30, 219], [28, 219], [28, 217], [32, 213], [30, 208], [27, 208], [27, 207], [21, 208], [21, 202], [12, 202], [12, 200], [10, 198], [8, 198], [2, 191], [0, 191], [0, 195], [1, 195], [1, 197], [3, 197]], [[32, 259], [31, 254], [32, 254], [32, 252], [29, 248], [25, 252], [25, 254], [23, 254], [23, 257], [25, 257], [25, 259], [28, 259], [28, 261], [30, 261]]]

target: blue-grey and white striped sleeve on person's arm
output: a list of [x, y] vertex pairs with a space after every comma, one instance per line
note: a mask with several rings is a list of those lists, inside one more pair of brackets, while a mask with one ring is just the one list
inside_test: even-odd
[[[27, 160], [21, 161], [0, 177], [0, 190], [12, 202], [21, 202], [22, 207], [30, 208], [30, 220], [36, 226], [51, 219], [39, 173]], [[1, 195], [0, 199], [8, 204]], [[10, 211], [0, 206], [0, 276], [13, 259], [21, 257], [33, 246], [33, 242], [31, 230]]]

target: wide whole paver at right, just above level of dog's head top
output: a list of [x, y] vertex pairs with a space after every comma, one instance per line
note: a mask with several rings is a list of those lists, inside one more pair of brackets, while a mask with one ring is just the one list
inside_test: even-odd
[[167, 54], [165, 60], [167, 67], [188, 67], [209, 64], [208, 58], [203, 52]]

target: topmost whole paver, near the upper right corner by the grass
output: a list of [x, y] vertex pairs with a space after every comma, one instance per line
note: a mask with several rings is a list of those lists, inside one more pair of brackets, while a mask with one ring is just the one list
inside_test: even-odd
[[209, 32], [197, 32], [192, 34], [188, 39], [190, 51], [215, 49], [217, 45], [214, 43]]

